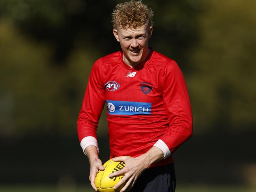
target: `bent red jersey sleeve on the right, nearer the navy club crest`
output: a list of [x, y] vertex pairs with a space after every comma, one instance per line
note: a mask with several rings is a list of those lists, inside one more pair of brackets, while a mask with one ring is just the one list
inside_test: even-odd
[[161, 136], [170, 152], [192, 135], [192, 112], [185, 79], [176, 62], [166, 64], [160, 77], [169, 127]]

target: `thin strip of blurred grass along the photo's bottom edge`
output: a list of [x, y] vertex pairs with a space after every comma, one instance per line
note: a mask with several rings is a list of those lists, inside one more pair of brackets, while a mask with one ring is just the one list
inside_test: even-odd
[[[256, 188], [241, 186], [178, 186], [176, 192], [255, 192]], [[90, 186], [1, 186], [0, 192], [93, 192]]]

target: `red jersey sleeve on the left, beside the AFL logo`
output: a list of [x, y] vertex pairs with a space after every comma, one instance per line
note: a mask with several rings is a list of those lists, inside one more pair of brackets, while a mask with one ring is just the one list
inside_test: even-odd
[[82, 108], [77, 121], [77, 132], [80, 142], [88, 136], [92, 136], [97, 140], [96, 130], [105, 104], [101, 67], [101, 59], [99, 59], [93, 64], [89, 76]]

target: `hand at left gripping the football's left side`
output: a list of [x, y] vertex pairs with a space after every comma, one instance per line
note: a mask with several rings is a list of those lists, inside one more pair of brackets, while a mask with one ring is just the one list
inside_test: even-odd
[[89, 176], [89, 180], [91, 181], [92, 188], [95, 191], [97, 191], [97, 188], [95, 186], [95, 177], [98, 170], [104, 171], [105, 167], [102, 165], [102, 162], [99, 158], [95, 158], [90, 162], [90, 176]]

